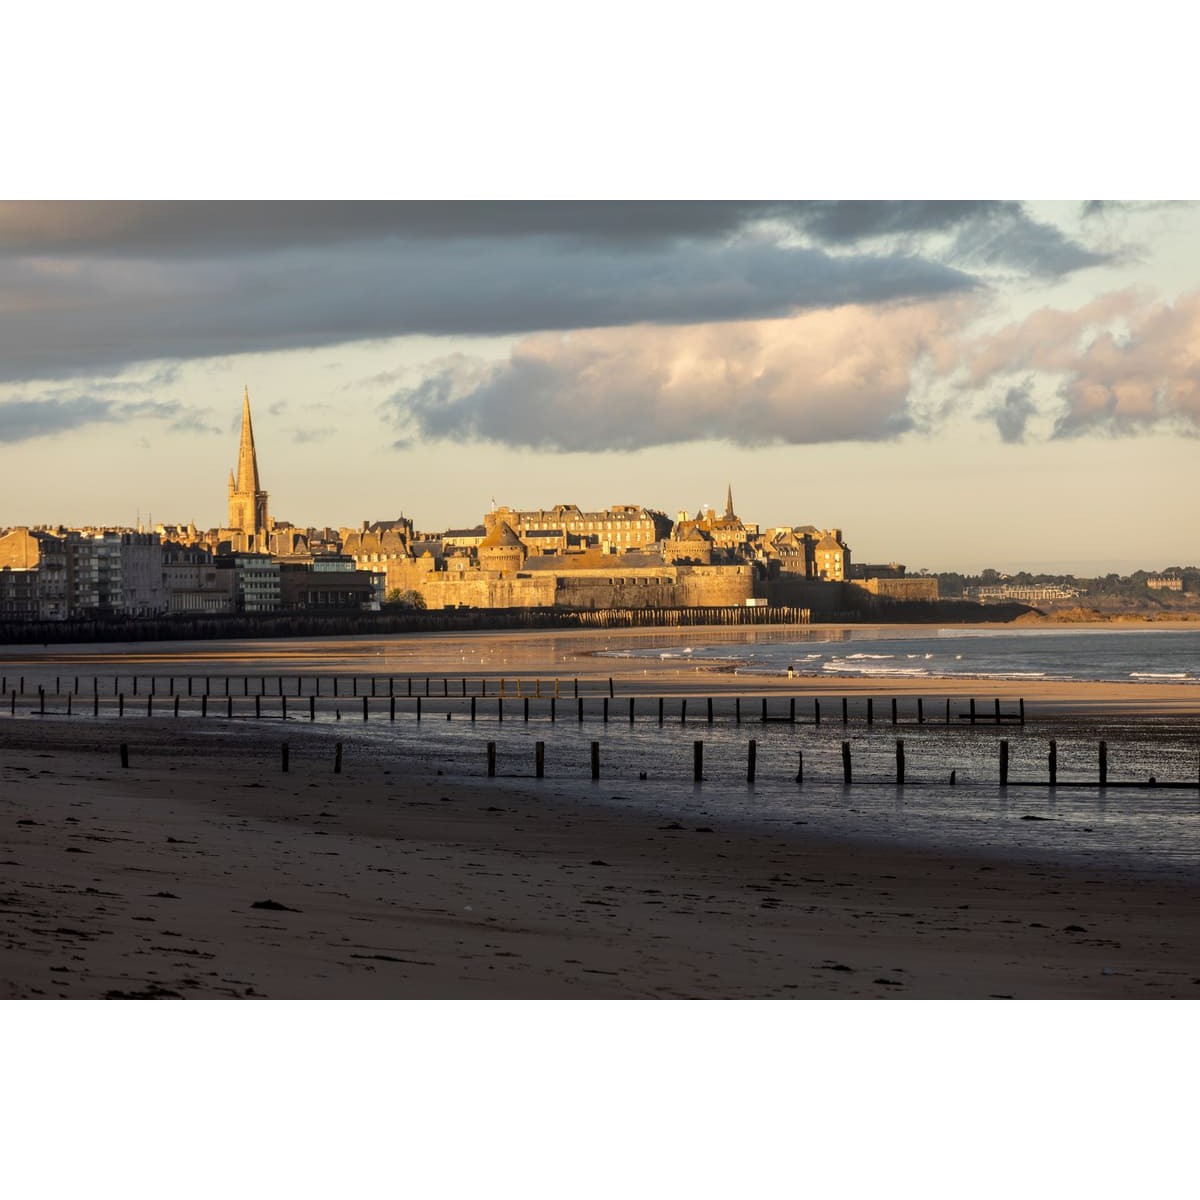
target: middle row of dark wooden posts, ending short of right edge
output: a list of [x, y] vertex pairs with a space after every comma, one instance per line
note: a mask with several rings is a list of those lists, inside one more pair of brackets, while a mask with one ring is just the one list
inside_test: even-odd
[[[24, 694], [22, 692], [22, 695], [24, 695]], [[37, 698], [38, 698], [37, 713], [41, 716], [47, 715], [47, 709], [46, 709], [46, 698], [47, 698], [47, 695], [48, 694], [46, 692], [46, 690], [43, 688], [38, 688], [37, 689]], [[74, 692], [67, 692], [67, 696], [66, 696], [66, 701], [67, 701], [66, 715], [67, 716], [73, 715], [73, 700], [74, 700], [74, 695], [76, 695]], [[136, 692], [134, 692], [134, 695], [136, 695]], [[247, 696], [248, 696], [248, 692], [247, 692]], [[10, 713], [12, 715], [16, 715], [16, 712], [17, 712], [17, 697], [18, 697], [18, 692], [14, 689], [10, 694]], [[172, 702], [170, 703], [172, 714], [178, 718], [179, 714], [180, 714], [180, 701], [182, 698], [181, 694], [180, 692], [169, 694], [167, 698]], [[226, 702], [224, 703], [226, 716], [232, 718], [234, 715], [234, 698], [235, 697], [233, 695], [230, 695], [230, 694], [227, 692], [223, 697], [210, 697], [210, 695], [208, 692], [205, 692], [204, 695], [202, 695], [199, 697], [199, 701], [200, 701], [200, 715], [206, 718], [209, 715], [209, 700], [210, 698], [214, 698], [214, 700], [224, 700], [224, 702]], [[277, 713], [275, 715], [277, 715], [282, 720], [287, 720], [288, 719], [288, 698], [289, 697], [287, 695], [284, 695], [283, 692], [280, 692], [278, 696], [269, 696], [269, 695], [266, 695], [264, 692], [258, 692], [258, 694], [256, 694], [251, 698], [253, 698], [253, 701], [254, 701], [254, 716], [257, 719], [260, 719], [263, 716], [263, 701], [264, 700], [276, 700], [276, 698], [280, 701], [280, 706], [278, 706], [278, 710], [277, 710]], [[317, 698], [318, 698], [318, 694], [310, 692], [310, 695], [307, 697], [299, 696], [299, 697], [295, 697], [295, 698], [299, 698], [301, 701], [304, 701], [305, 698], [307, 698], [307, 701], [308, 701], [308, 720], [311, 720], [311, 721], [316, 720], [317, 719]], [[371, 702], [372, 698], [386, 698], [388, 700], [388, 719], [391, 720], [391, 721], [396, 720], [396, 700], [398, 698], [396, 695], [391, 695], [391, 696], [388, 696], [388, 697], [372, 697], [372, 696], [364, 695], [360, 698], [362, 701], [362, 720], [364, 721], [370, 720], [370, 716], [371, 716], [370, 702]], [[413, 698], [416, 701], [416, 719], [421, 720], [421, 718], [422, 718], [422, 713], [421, 713], [421, 700], [422, 700], [422, 697], [420, 695], [418, 695], [418, 696], [415, 696]], [[481, 697], [479, 697], [479, 696], [470, 696], [469, 697], [469, 700], [470, 700], [470, 720], [473, 720], [473, 721], [476, 720], [476, 718], [479, 715], [478, 704], [479, 704], [479, 700], [480, 698]], [[484, 698], [492, 698], [492, 697], [484, 697]], [[521, 697], [521, 698], [522, 698], [522, 718], [523, 718], [523, 720], [528, 721], [529, 720], [529, 715], [530, 715], [529, 701], [532, 698], [536, 700], [536, 698], [541, 698], [541, 697], [539, 697], [539, 696], [535, 695], [533, 697], [524, 696], [524, 697]], [[610, 696], [605, 696], [601, 700], [600, 718], [601, 718], [601, 720], [605, 724], [607, 724], [608, 719], [610, 719], [610, 701], [611, 701], [611, 698], [612, 697], [610, 697]], [[496, 700], [496, 718], [497, 718], [498, 721], [503, 721], [504, 720], [504, 700], [505, 700], [505, 697], [504, 696], [496, 696], [494, 700]], [[548, 713], [550, 713], [550, 720], [552, 722], [554, 722], [554, 721], [558, 720], [558, 698], [557, 698], [557, 696], [550, 696], [548, 700], [550, 700], [550, 710], [548, 710]], [[743, 720], [742, 700], [743, 700], [743, 697], [736, 696], [734, 701], [733, 701], [733, 704], [734, 704], [734, 722], [738, 724], [738, 725], [740, 725], [742, 720]], [[92, 692], [91, 701], [92, 701], [92, 706], [91, 706], [92, 716], [98, 716], [100, 715], [100, 707], [101, 707], [101, 696], [100, 696], [98, 691]], [[145, 701], [146, 701], [146, 706], [145, 706], [145, 708], [146, 708], [146, 716], [152, 716], [154, 713], [155, 713], [155, 694], [152, 691], [150, 694], [148, 694], [146, 697], [145, 697]], [[760, 714], [758, 720], [763, 725], [766, 725], [768, 722], [772, 722], [772, 721], [780, 722], [780, 724], [790, 724], [790, 725], [815, 725], [816, 726], [816, 725], [821, 724], [821, 701], [818, 698], [816, 698], [816, 697], [814, 697], [814, 700], [812, 700], [812, 715], [809, 719], [803, 719], [803, 718], [797, 716], [797, 707], [796, 707], [796, 697], [794, 696], [787, 697], [787, 715], [786, 716], [779, 715], [778, 713], [774, 714], [774, 715], [770, 714], [770, 712], [768, 710], [767, 701], [768, 701], [767, 696], [760, 697], [761, 714]], [[988, 720], [986, 718], [983, 718], [979, 714], [979, 710], [976, 708], [976, 701], [974, 700], [971, 700], [968, 702], [968, 704], [970, 704], [970, 707], [968, 707], [967, 712], [958, 714], [958, 716], [959, 716], [960, 720], [970, 721], [971, 725], [976, 725], [977, 722], [984, 722], [984, 721]], [[126, 697], [125, 697], [125, 692], [124, 691], [116, 694], [116, 706], [118, 706], [118, 715], [119, 716], [124, 716], [125, 715], [125, 707], [126, 707]], [[630, 725], [634, 724], [635, 712], [636, 712], [635, 706], [636, 706], [636, 697], [630, 696], [629, 697], [629, 724]], [[162, 712], [161, 708], [160, 708], [160, 712]], [[583, 697], [578, 696], [576, 698], [576, 714], [577, 714], [577, 719], [578, 719], [580, 724], [583, 722], [583, 713], [584, 713]], [[54, 715], [54, 713], [52, 712], [50, 715]], [[268, 715], [270, 716], [271, 714], [269, 713]], [[445, 715], [446, 715], [448, 720], [451, 716], [451, 714], [449, 712]], [[659, 696], [658, 697], [658, 721], [659, 721], [659, 725], [664, 725], [666, 722], [666, 715], [667, 715], [666, 714], [666, 700], [665, 700], [665, 697]], [[338, 710], [338, 716], [341, 716], [341, 710]], [[952, 716], [952, 701], [947, 700], [946, 701], [946, 718], [944, 718], [944, 724], [947, 724], [947, 725], [950, 724], [950, 716]], [[707, 724], [709, 724], [709, 725], [712, 725], [714, 722], [714, 720], [715, 720], [715, 718], [714, 718], [714, 708], [713, 708], [713, 697], [712, 696], [707, 697], [707, 700], [706, 700], [706, 716], [704, 716], [704, 719], [706, 719]], [[752, 718], [746, 716], [746, 720], [752, 720]], [[994, 721], [997, 725], [1001, 724], [1002, 721], [1016, 722], [1016, 724], [1024, 725], [1025, 724], [1025, 701], [1024, 700], [1018, 701], [1018, 708], [1016, 708], [1015, 712], [1007, 712], [1006, 713], [1006, 712], [1001, 710], [1000, 701], [996, 700], [995, 701], [995, 706], [994, 706], [994, 710], [992, 710], [991, 721]], [[679, 724], [680, 725], [686, 725], [688, 724], [688, 698], [686, 697], [682, 697], [680, 701], [679, 701]], [[848, 725], [850, 724], [850, 701], [845, 696], [841, 697], [841, 724], [842, 725]], [[870, 696], [866, 697], [866, 724], [868, 725], [874, 725], [875, 724], [875, 701]], [[912, 724], [911, 721], [906, 721], [905, 722], [905, 721], [900, 720], [900, 707], [899, 707], [899, 701], [896, 700], [895, 696], [892, 697], [892, 724], [893, 725]], [[917, 725], [932, 724], [932, 721], [926, 721], [925, 701], [922, 697], [917, 698], [916, 724]]]

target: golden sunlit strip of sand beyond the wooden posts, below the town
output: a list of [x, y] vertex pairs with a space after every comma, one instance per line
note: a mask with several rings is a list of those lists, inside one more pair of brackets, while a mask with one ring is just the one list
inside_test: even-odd
[[[13, 653], [0, 647], [0, 672], [13, 678], [26, 676], [26, 690], [37, 684], [49, 689], [56, 677], [73, 674], [128, 677], [192, 674], [203, 678], [282, 674], [323, 678], [330, 676], [376, 676], [424, 678], [437, 676], [457, 680], [521, 678], [544, 682], [558, 678], [581, 683], [581, 694], [600, 694], [613, 680], [624, 695], [634, 696], [750, 696], [784, 694], [796, 697], [924, 696], [926, 698], [1000, 698], [1026, 700], [1037, 715], [1180, 715], [1200, 716], [1200, 682], [1091, 682], [1060, 679], [1012, 679], [973, 677], [907, 676], [738, 676], [704, 662], [646, 660], [604, 656], [604, 652], [635, 646], [677, 647], [700, 644], [754, 644], [780, 642], [803, 634], [890, 634], [896, 638], [929, 636], [934, 628], [953, 630], [997, 630], [1019, 634], [1007, 624], [973, 625], [764, 625], [731, 629], [728, 626], [692, 626], [686, 630], [635, 629], [616, 631], [470, 631], [463, 635], [401, 634], [388, 638], [373, 635], [330, 638], [250, 640], [242, 642], [131, 643], [78, 647], [23, 647]], [[1028, 628], [1028, 626], [1024, 626]], [[1104, 632], [1139, 632], [1142, 629], [1110, 629], [1105, 625], [1064, 623], [1048, 628], [1079, 632], [1093, 629]], [[1154, 631], [1194, 632], [1193, 623], [1157, 623]], [[886, 638], [884, 638], [886, 640]], [[70, 674], [65, 668], [74, 668]]]

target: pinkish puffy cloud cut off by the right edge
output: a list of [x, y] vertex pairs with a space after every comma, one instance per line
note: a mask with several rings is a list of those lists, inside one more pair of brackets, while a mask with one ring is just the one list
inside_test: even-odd
[[1200, 433], [1200, 293], [1170, 305], [1117, 292], [1074, 312], [1043, 308], [965, 354], [972, 386], [1014, 371], [1054, 377], [1056, 437]]

